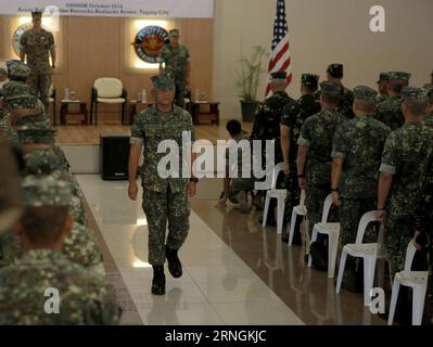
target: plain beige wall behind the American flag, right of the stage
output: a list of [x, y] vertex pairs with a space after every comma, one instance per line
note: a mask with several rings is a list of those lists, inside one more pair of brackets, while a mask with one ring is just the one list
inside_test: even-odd
[[[241, 117], [234, 75], [241, 49], [260, 44], [270, 51], [276, 0], [216, 0], [214, 39], [214, 99], [221, 117]], [[303, 72], [324, 78], [327, 65], [345, 65], [347, 87], [374, 86], [381, 70], [412, 73], [412, 85], [430, 80], [433, 69], [432, 0], [286, 0], [293, 82], [298, 97]], [[383, 5], [386, 31], [369, 29], [372, 5]], [[267, 65], [267, 64], [265, 64]], [[264, 66], [266, 68], [266, 66]], [[265, 76], [258, 99], [264, 98]]]

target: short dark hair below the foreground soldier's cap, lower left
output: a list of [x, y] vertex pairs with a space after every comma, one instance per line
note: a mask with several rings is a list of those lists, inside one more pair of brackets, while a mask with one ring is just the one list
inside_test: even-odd
[[67, 206], [26, 207], [21, 222], [31, 243], [47, 244], [60, 240], [67, 215]]

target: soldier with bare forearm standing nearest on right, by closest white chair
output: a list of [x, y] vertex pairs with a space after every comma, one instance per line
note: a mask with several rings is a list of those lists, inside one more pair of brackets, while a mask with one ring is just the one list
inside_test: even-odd
[[405, 87], [402, 110], [405, 125], [385, 143], [380, 167], [378, 218], [386, 224], [384, 245], [392, 274], [402, 271], [411, 237], [411, 215], [421, 194], [422, 175], [433, 153], [433, 129], [423, 123], [428, 91]]

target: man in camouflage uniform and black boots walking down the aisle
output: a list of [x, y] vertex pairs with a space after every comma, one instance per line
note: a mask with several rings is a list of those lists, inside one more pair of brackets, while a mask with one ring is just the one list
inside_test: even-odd
[[[171, 163], [168, 178], [160, 174], [164, 153], [158, 153], [158, 144], [164, 140], [175, 141], [182, 149], [182, 132], [191, 133], [194, 141], [194, 129], [191, 115], [173, 104], [175, 82], [167, 74], [152, 77], [155, 88], [156, 104], [136, 116], [131, 128], [129, 155], [128, 195], [137, 198], [136, 172], [144, 145], [144, 165], [141, 168], [143, 187], [143, 210], [149, 228], [149, 262], [153, 267], [152, 293], [165, 294], [164, 262], [168, 260], [168, 270], [174, 278], [182, 275], [178, 249], [187, 239], [189, 231], [190, 207], [188, 195], [195, 194], [196, 179], [184, 178], [182, 168], [189, 168], [190, 158], [180, 153], [177, 167]], [[184, 142], [184, 141], [183, 141]], [[183, 143], [188, 145], [188, 143]], [[182, 152], [182, 151], [180, 151]], [[192, 159], [194, 155], [192, 155]], [[168, 221], [168, 237], [166, 227]]]

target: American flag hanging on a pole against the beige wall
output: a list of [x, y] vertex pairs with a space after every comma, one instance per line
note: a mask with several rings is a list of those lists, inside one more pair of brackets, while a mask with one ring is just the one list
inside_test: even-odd
[[[277, 16], [273, 21], [272, 54], [268, 73], [286, 72], [288, 83], [292, 80], [292, 59], [290, 55], [288, 21], [284, 0], [277, 0]], [[270, 97], [270, 82], [266, 86], [266, 98]]]

